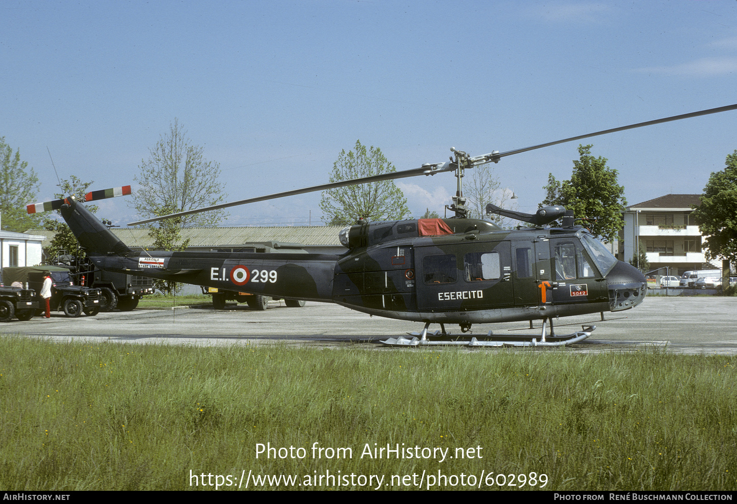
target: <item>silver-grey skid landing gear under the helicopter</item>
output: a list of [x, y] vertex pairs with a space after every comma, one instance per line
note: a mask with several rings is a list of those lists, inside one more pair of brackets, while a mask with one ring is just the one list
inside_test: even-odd
[[[564, 336], [556, 336], [553, 333], [553, 322], [550, 321], [551, 324], [551, 332], [550, 334], [546, 334], [546, 322], [548, 322], [548, 319], [543, 319], [542, 321], [542, 332], [540, 334], [519, 334], [515, 336], [500, 336], [497, 334], [493, 334], [492, 331], [489, 331], [489, 334], [487, 336], [481, 336], [481, 338], [470, 338], [470, 339], [455, 339], [455, 340], [430, 340], [427, 338], [427, 327], [430, 326], [430, 322], [427, 322], [425, 324], [425, 329], [422, 330], [422, 334], [418, 333], [410, 333], [410, 336], [414, 336], [412, 339], [404, 338], [403, 336], [399, 336], [399, 338], [388, 338], [385, 341], [380, 341], [380, 343], [388, 346], [388, 347], [421, 347], [421, 346], [436, 346], [436, 345], [445, 345], [445, 346], [463, 346], [463, 347], [565, 347], [567, 345], [571, 345], [574, 343], [579, 343], [579, 341], [584, 341], [584, 339], [591, 336], [591, 333], [593, 330], [596, 329], [595, 325], [582, 325], [580, 331], [576, 331], [575, 333], [566, 334]], [[442, 327], [442, 324], [441, 324]], [[444, 327], [443, 327], [444, 330]], [[435, 331], [434, 333], [430, 333], [430, 336], [439, 336], [440, 331]], [[421, 338], [419, 338], [420, 336]], [[444, 336], [447, 336], [444, 334]]]

